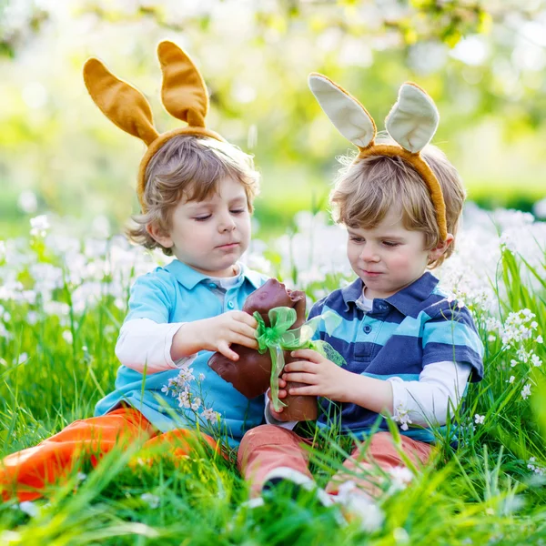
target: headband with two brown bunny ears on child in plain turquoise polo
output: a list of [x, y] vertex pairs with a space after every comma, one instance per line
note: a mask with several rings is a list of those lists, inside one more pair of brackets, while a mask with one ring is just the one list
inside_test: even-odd
[[84, 80], [89, 95], [103, 114], [129, 135], [140, 138], [147, 152], [138, 168], [136, 194], [142, 211], [146, 212], [144, 190], [149, 160], [167, 140], [177, 135], [210, 136], [223, 141], [205, 126], [208, 110], [207, 88], [203, 77], [189, 57], [172, 42], [157, 46], [157, 56], [163, 72], [161, 100], [171, 116], [187, 122], [167, 133], [159, 134], [154, 126], [147, 99], [135, 87], [118, 79], [98, 59], [90, 58], [84, 66]]

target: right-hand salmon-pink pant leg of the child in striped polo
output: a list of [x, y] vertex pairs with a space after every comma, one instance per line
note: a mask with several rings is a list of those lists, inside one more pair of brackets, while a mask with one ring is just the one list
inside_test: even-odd
[[[412, 440], [401, 436], [401, 448], [408, 458], [416, 465], [421, 466], [430, 460], [432, 446], [429, 443]], [[381, 490], [377, 483], [377, 473], [374, 472], [373, 460], [380, 469], [389, 472], [395, 467], [405, 467], [395, 447], [392, 435], [389, 432], [376, 432], [369, 442], [368, 451], [364, 454], [360, 450], [361, 444], [355, 446], [351, 456], [343, 463], [346, 470], [340, 470], [326, 487], [329, 493], [337, 494], [343, 483], [351, 481], [358, 490], [372, 498], [378, 498]]]

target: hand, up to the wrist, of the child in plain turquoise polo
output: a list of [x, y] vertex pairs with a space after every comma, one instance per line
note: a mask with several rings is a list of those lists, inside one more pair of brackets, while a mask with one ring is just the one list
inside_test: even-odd
[[258, 349], [256, 340], [258, 322], [245, 311], [228, 311], [202, 322], [204, 324], [200, 332], [201, 350], [216, 350], [227, 359], [238, 360], [238, 354], [229, 349], [232, 343], [238, 343], [248, 349]]

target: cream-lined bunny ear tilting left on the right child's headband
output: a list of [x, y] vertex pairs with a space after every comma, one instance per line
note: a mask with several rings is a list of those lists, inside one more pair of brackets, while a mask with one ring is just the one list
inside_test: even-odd
[[309, 75], [308, 84], [341, 135], [360, 149], [373, 145], [376, 125], [368, 110], [354, 96], [316, 72]]

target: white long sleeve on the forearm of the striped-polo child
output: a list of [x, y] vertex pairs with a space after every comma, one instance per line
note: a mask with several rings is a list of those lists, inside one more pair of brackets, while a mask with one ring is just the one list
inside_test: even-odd
[[444, 361], [425, 366], [419, 380], [387, 379], [392, 387], [394, 420], [402, 430], [408, 425], [445, 425], [465, 392], [470, 364]]

